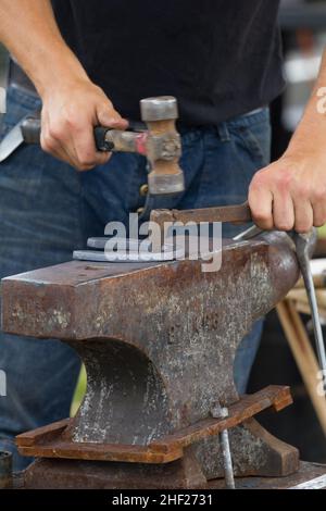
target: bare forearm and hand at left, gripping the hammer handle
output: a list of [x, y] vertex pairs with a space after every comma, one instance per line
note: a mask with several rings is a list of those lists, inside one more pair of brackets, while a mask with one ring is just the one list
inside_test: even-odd
[[41, 96], [42, 149], [79, 170], [108, 162], [96, 150], [93, 127], [128, 123], [63, 40], [50, 0], [0, 0], [0, 41]]

